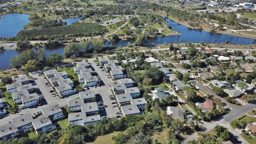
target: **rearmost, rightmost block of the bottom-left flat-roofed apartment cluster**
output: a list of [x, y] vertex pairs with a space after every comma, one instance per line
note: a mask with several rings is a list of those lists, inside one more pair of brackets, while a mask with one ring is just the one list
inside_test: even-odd
[[50, 120], [58, 120], [64, 117], [62, 109], [58, 104], [53, 104], [51, 106], [41, 108], [41, 112], [44, 116], [48, 116]]

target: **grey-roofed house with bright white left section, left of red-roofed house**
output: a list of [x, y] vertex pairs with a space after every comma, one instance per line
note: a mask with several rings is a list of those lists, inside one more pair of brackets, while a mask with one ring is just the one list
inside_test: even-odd
[[167, 106], [166, 114], [172, 116], [172, 119], [179, 119], [180, 121], [184, 122], [184, 112], [186, 112], [185, 108]]

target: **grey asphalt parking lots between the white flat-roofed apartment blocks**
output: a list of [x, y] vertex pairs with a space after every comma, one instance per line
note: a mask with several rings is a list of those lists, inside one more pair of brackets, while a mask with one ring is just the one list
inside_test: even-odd
[[[100, 100], [102, 100], [103, 105], [99, 106], [99, 108], [104, 109], [103, 112], [100, 112], [100, 115], [108, 116], [109, 118], [116, 117], [118, 115], [121, 116], [121, 114], [116, 114], [116, 112], [120, 112], [119, 108], [112, 107], [112, 105], [114, 105], [112, 104], [112, 102], [116, 102], [116, 100], [110, 100], [110, 97], [109, 97], [109, 95], [112, 94], [110, 85], [114, 84], [114, 82], [119, 83], [119, 81], [118, 80], [113, 81], [111, 78], [108, 78], [109, 77], [107, 76], [108, 73], [105, 71], [102, 71], [102, 68], [100, 68], [100, 66], [97, 66], [96, 63], [91, 62], [91, 65], [93, 66], [94, 70], [98, 73], [99, 79], [101, 80], [101, 84], [102, 84], [102, 86], [97, 86], [96, 88], [94, 87], [89, 88], [89, 90], [94, 90], [95, 94], [100, 94]], [[27, 114], [27, 113], [34, 114], [40, 111], [41, 108], [45, 108], [51, 104], [59, 104], [60, 106], [67, 106], [68, 104], [67, 100], [79, 98], [78, 93], [68, 97], [64, 97], [62, 99], [60, 99], [58, 96], [53, 97], [52, 94], [54, 94], [55, 92], [50, 92], [53, 90], [53, 88], [52, 86], [48, 86], [48, 87], [46, 86], [45, 82], [47, 82], [47, 80], [44, 78], [44, 76], [38, 76], [38, 73], [36, 72], [30, 73], [30, 76], [33, 77], [30, 80], [33, 80], [34, 88], [38, 88], [37, 92], [42, 93], [42, 95], [44, 96], [43, 98], [45, 100], [42, 101], [42, 105], [39, 105], [35, 108], [26, 108], [21, 110], [19, 113], [11, 114], [8, 117], [2, 118], [0, 120], [1, 124], [7, 124], [10, 121], [10, 119], [18, 117], [22, 114]]]

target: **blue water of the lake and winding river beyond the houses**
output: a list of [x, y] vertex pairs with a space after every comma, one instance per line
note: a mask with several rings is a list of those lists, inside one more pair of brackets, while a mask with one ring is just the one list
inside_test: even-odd
[[[16, 36], [16, 34], [22, 30], [23, 26], [28, 24], [30, 22], [28, 20], [29, 15], [26, 14], [6, 14], [0, 19], [0, 37], [10, 37], [10, 36]], [[72, 22], [76, 22], [80, 20], [81, 17], [78, 18], [70, 18], [68, 20], [63, 20], [67, 22], [67, 25], [71, 24]], [[215, 42], [218, 42], [220, 40], [220, 43], [225, 42], [226, 40], [230, 40], [234, 42], [235, 44], [240, 43], [242, 41], [242, 44], [251, 44], [251, 41], [254, 40], [252, 38], [242, 38], [238, 36], [231, 36], [227, 34], [210, 34], [209, 32], [205, 31], [199, 31], [194, 30], [192, 28], [188, 28], [186, 26], [183, 26], [181, 24], [177, 24], [176, 22], [166, 19], [168, 21], [167, 26], [171, 26], [173, 29], [176, 27], [175, 31], [180, 30], [181, 35], [176, 36], [163, 36], [163, 37], [157, 37], [157, 38], [150, 38], [147, 40], [147, 44], [162, 44], [163, 42], [171, 43], [171, 42], [180, 42], [180, 39], [182, 39], [182, 43], [187, 42], [195, 42], [199, 43], [200, 41], [212, 43], [212, 40], [215, 40]], [[13, 30], [15, 29], [15, 30]], [[111, 44], [115, 46], [127, 46], [128, 42], [133, 43], [134, 40], [120, 40], [116, 42], [112, 41], [106, 41], [105, 46], [109, 46]], [[36, 49], [35, 49], [36, 50]], [[58, 54], [62, 54], [64, 52], [64, 46], [56, 47], [56, 48], [45, 48], [46, 55], [49, 56], [52, 52], [57, 52]], [[20, 51], [17, 50], [9, 50], [0, 52], [0, 61], [5, 62], [4, 64], [0, 64], [0, 69], [4, 68], [7, 69], [9, 66], [10, 56], [18, 55]]]

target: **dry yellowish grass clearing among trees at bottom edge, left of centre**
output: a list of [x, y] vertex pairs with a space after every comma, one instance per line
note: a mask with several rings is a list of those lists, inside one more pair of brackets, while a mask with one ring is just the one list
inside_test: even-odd
[[112, 136], [116, 136], [119, 132], [112, 132], [104, 136], [98, 136], [94, 142], [86, 142], [86, 144], [114, 144], [112, 141]]

